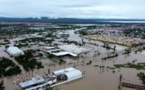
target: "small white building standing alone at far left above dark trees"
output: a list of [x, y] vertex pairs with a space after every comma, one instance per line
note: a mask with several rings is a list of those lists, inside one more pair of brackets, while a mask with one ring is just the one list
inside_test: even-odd
[[20, 50], [18, 47], [8, 47], [7, 52], [11, 56], [19, 56], [19, 55], [24, 55], [24, 52]]

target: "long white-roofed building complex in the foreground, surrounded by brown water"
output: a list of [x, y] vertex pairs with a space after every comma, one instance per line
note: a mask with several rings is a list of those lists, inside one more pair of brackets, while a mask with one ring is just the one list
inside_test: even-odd
[[20, 82], [20, 86], [24, 90], [44, 90], [45, 87], [55, 87], [79, 78], [84, 74], [73, 67], [57, 70], [53, 72], [53, 76], [36, 76], [31, 80]]

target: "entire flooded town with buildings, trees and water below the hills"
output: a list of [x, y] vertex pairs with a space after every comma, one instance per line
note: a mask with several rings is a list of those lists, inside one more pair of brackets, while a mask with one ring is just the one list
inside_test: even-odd
[[0, 90], [145, 89], [145, 23], [43, 19], [0, 22]]

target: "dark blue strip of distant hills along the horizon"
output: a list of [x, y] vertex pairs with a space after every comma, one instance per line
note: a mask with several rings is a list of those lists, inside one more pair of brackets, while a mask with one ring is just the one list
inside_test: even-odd
[[0, 22], [49, 22], [49, 23], [97, 23], [109, 21], [145, 21], [145, 19], [79, 19], [79, 18], [7, 18], [0, 17]]

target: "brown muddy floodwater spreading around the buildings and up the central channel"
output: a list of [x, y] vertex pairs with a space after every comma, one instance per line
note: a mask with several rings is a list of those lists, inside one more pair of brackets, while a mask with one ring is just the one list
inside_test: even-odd
[[[67, 31], [71, 33], [69, 40], [80, 41], [81, 38], [79, 35], [74, 34], [73, 30]], [[43, 69], [35, 69], [33, 72], [25, 72], [22, 71], [22, 74], [12, 77], [1, 78], [0, 80], [4, 80], [5, 90], [21, 90], [21, 87], [18, 85], [18, 82], [25, 81], [31, 79], [32, 76], [35, 75], [44, 75], [47, 73], [48, 68], [50, 71], [63, 69], [66, 67], [72, 67], [73, 64], [68, 63], [75, 63], [75, 68], [81, 70], [82, 72], [85, 71], [85, 77], [54, 87], [54, 90], [118, 90], [119, 85], [119, 77], [120, 74], [123, 75], [123, 81], [141, 84], [141, 81], [137, 77], [138, 72], [145, 72], [143, 70], [136, 70], [130, 68], [121, 68], [121, 69], [109, 69], [109, 67], [113, 67], [114, 64], [124, 64], [128, 62], [132, 62], [133, 60], [137, 59], [137, 62], [144, 62], [144, 52], [135, 54], [132, 52], [130, 55], [122, 55], [122, 52], [125, 46], [116, 45], [116, 49], [119, 53], [119, 57], [102, 60], [101, 58], [107, 56], [107, 53], [111, 52], [111, 50], [106, 50], [101, 47], [103, 45], [100, 41], [88, 41], [84, 39], [85, 42], [97, 43], [99, 46], [94, 46], [92, 44], [86, 44], [85, 48], [90, 49], [88, 53], [82, 53], [79, 58], [71, 58], [65, 57], [64, 60], [67, 61], [64, 65], [55, 65], [55, 66], [48, 66], [50, 63], [54, 63], [51, 60], [48, 60], [46, 57], [42, 58], [41, 61], [44, 64]], [[112, 44], [112, 46], [114, 46]], [[35, 45], [35, 47], [37, 47]], [[99, 51], [100, 55], [94, 55], [95, 51]], [[2, 52], [2, 51], [1, 51]], [[86, 65], [89, 61], [93, 63], [91, 65]], [[84, 61], [84, 62], [82, 62]], [[94, 67], [94, 65], [105, 66], [105, 68]], [[130, 90], [128, 88], [122, 88], [122, 90]]]

